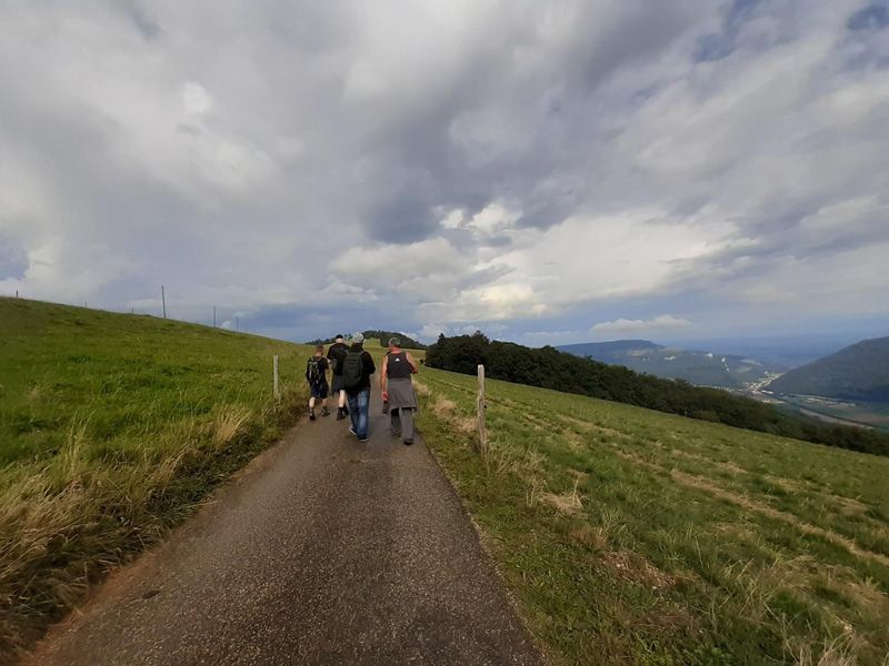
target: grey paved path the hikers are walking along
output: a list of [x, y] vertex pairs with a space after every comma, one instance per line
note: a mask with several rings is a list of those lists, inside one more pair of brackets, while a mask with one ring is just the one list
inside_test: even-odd
[[539, 664], [422, 441], [301, 422], [30, 664]]

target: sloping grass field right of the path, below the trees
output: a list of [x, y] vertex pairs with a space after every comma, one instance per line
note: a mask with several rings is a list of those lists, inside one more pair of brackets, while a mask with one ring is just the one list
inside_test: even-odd
[[889, 460], [423, 369], [426, 442], [555, 664], [889, 664]]

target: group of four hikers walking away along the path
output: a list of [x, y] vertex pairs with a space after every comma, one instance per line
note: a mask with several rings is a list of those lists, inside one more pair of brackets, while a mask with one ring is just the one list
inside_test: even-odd
[[[379, 390], [383, 413], [389, 414], [393, 437], [413, 444], [413, 414], [417, 411], [417, 396], [410, 375], [419, 372], [419, 366], [410, 353], [401, 349], [398, 337], [390, 337], [380, 370]], [[328, 382], [328, 372], [331, 381]], [[321, 405], [321, 416], [329, 416], [329, 396], [337, 400], [337, 420], [349, 416], [349, 432], [359, 442], [367, 442], [369, 432], [371, 377], [377, 372], [373, 356], [364, 350], [364, 335], [354, 333], [349, 344], [342, 335], [337, 335], [324, 354], [324, 345], [318, 344], [314, 354], [306, 364], [306, 381], [309, 382], [309, 420], [317, 418], [314, 407]]]

